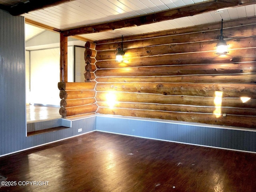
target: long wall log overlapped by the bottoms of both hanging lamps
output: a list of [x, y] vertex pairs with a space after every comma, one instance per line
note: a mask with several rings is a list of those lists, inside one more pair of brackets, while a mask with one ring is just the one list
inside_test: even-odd
[[[255, 61], [256, 48], [229, 50], [225, 57], [221, 57], [212, 52], [193, 52], [182, 54], [165, 54], [147, 56], [141, 58], [124, 58], [124, 62], [117, 63], [115, 60], [97, 61], [98, 69], [104, 68], [124, 68], [140, 66], [164, 66], [164, 65], [184, 65], [184, 64], [216, 64], [216, 63], [236, 63]], [[125, 57], [125, 55], [124, 55]], [[193, 59], [191, 59], [193, 58]]]

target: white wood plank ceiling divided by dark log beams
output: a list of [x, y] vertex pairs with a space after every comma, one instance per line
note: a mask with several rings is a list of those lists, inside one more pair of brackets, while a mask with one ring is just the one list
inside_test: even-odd
[[[0, 0], [0, 8], [8, 10], [16, 6], [32, 4], [35, 0]], [[90, 26], [96, 24], [110, 24], [110, 22], [126, 20], [128, 18], [143, 15], [159, 13], [166, 10], [178, 10], [184, 6], [196, 6], [200, 4], [204, 6], [209, 1], [206, 0], [46, 0], [48, 6], [38, 5], [35, 10], [22, 14], [27, 21], [48, 26], [54, 30], [67, 30], [80, 26]], [[117, 38], [120, 36], [130, 36], [136, 34], [145, 34], [150, 32], [158, 32], [162, 30], [170, 30], [176, 28], [185, 28], [200, 24], [233, 20], [237, 18], [256, 16], [255, 0], [226, 0], [218, 1], [222, 3], [224, 8], [218, 10], [207, 9], [200, 13], [189, 16], [179, 16], [170, 20], [154, 22], [151, 24], [143, 24], [140, 26], [132, 26], [127, 28], [116, 28], [115, 30], [107, 30], [104, 32], [95, 32], [90, 34], [80, 34], [80, 37], [87, 40], [104, 40], [109, 38]], [[236, 5], [241, 6], [235, 6]], [[244, 5], [246, 2], [246, 5]], [[231, 6], [229, 6], [229, 4]], [[25, 9], [26, 10], [26, 9]], [[216, 14], [216, 11], [218, 13]], [[194, 14], [194, 13], [193, 13]]]

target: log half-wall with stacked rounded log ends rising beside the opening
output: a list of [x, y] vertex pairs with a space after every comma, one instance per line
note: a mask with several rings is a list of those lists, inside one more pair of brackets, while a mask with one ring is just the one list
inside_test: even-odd
[[95, 99], [95, 44], [92, 42], [86, 42], [84, 48], [84, 83], [58, 83], [61, 99], [59, 113], [62, 118], [81, 114], [95, 114], [98, 108]]

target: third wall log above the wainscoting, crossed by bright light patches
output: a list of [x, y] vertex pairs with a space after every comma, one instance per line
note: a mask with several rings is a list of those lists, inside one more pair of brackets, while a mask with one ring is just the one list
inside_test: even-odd
[[[97, 102], [105, 102], [106, 94], [109, 92], [97, 92]], [[143, 93], [124, 93], [114, 92], [116, 102], [138, 102], [138, 103], [155, 103], [155, 104], [177, 104], [189, 106], [215, 106], [214, 97], [197, 97], [197, 96], [168, 96], [157, 94]], [[256, 99], [250, 99], [243, 103], [240, 98], [222, 98], [223, 107], [235, 108], [256, 108]]]

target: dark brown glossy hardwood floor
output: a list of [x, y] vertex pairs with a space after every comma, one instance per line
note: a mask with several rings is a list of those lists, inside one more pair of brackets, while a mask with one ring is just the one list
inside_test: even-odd
[[255, 192], [256, 154], [92, 132], [4, 156], [0, 175], [5, 192]]

